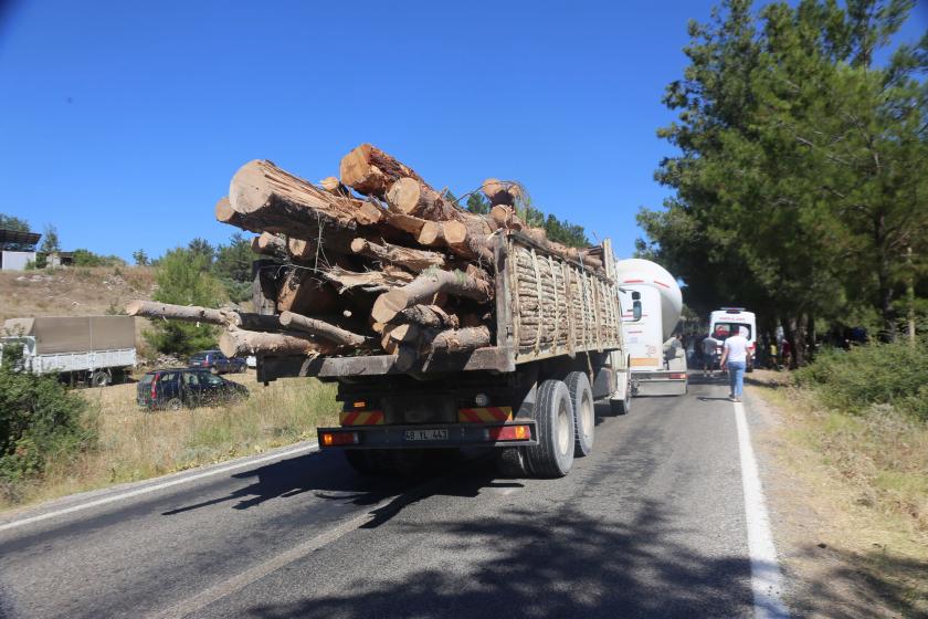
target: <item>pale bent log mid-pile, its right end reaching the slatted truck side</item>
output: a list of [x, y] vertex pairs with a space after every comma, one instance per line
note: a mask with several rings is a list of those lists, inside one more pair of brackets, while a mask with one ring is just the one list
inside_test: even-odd
[[405, 286], [378, 296], [371, 310], [371, 317], [378, 323], [389, 323], [408, 307], [430, 304], [439, 293], [486, 303], [492, 296], [493, 288], [485, 280], [461, 271], [432, 269]]

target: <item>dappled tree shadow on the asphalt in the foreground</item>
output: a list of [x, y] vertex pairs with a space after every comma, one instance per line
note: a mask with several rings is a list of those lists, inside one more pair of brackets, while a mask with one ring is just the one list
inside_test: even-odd
[[[625, 521], [566, 505], [510, 510], [488, 521], [442, 523], [430, 553], [403, 567], [366, 573], [317, 596], [313, 585], [249, 616], [284, 617], [735, 617], [750, 612], [750, 566], [742, 557], [699, 553], [661, 503]], [[623, 522], [624, 521], [624, 522]], [[414, 523], [392, 535], [414, 536]], [[458, 569], [437, 557], [455, 557]], [[312, 559], [310, 559], [312, 560]], [[432, 565], [429, 565], [429, 564]], [[425, 565], [405, 569], [409, 565]], [[316, 570], [321, 565], [303, 565]], [[462, 574], [463, 568], [466, 574]], [[401, 576], [400, 576], [401, 574]], [[255, 595], [256, 594], [256, 595]], [[251, 599], [272, 599], [263, 591]]]

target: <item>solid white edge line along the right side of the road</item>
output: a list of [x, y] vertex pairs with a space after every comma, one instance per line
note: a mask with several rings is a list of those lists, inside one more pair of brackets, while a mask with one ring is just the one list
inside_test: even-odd
[[755, 617], [787, 619], [790, 613], [781, 598], [783, 576], [777, 562], [777, 548], [770, 533], [770, 517], [763, 500], [745, 405], [735, 402], [738, 451], [741, 454], [741, 485], [745, 491], [745, 517], [748, 525], [748, 553], [751, 559], [751, 592]]

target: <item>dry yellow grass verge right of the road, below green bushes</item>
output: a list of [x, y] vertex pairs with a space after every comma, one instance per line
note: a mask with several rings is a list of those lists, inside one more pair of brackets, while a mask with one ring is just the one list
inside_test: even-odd
[[848, 415], [776, 373], [756, 378], [782, 417], [778, 461], [809, 489], [830, 548], [904, 616], [928, 613], [928, 424], [889, 407]]

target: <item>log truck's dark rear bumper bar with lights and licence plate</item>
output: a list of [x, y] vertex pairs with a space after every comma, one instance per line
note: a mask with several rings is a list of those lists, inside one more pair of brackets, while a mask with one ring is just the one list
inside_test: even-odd
[[[527, 426], [530, 439], [496, 440], [494, 434], [507, 426]], [[440, 440], [412, 440], [409, 432], [421, 430], [445, 431], [447, 438]], [[538, 428], [535, 420], [519, 419], [500, 423], [424, 423], [416, 426], [350, 426], [344, 428], [318, 428], [319, 449], [442, 449], [460, 447], [525, 447], [538, 444]], [[350, 442], [329, 444], [325, 434], [337, 436], [338, 440]]]

